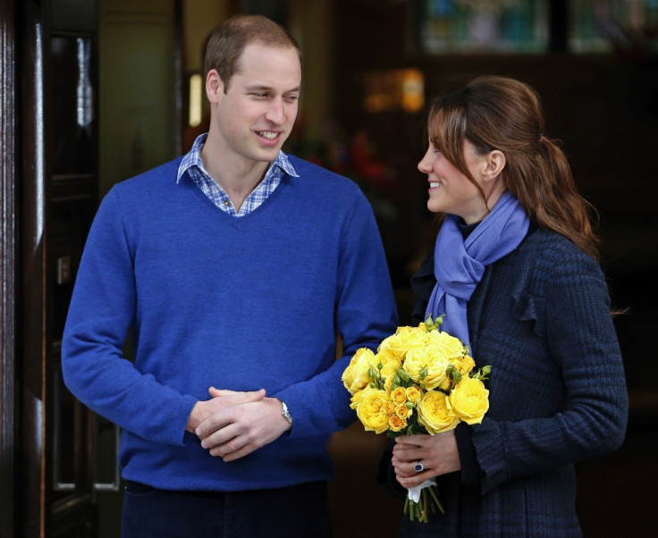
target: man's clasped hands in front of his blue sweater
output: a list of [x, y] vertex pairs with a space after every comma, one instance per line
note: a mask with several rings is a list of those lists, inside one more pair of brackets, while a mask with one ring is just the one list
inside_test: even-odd
[[208, 390], [210, 399], [192, 409], [187, 431], [195, 433], [211, 456], [224, 461], [247, 456], [278, 439], [290, 428], [281, 400], [266, 398], [265, 389], [240, 392]]

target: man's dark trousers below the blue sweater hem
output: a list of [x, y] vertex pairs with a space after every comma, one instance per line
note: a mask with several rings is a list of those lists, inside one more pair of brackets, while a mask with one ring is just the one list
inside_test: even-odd
[[127, 483], [122, 538], [329, 538], [326, 483], [253, 492], [167, 492]]

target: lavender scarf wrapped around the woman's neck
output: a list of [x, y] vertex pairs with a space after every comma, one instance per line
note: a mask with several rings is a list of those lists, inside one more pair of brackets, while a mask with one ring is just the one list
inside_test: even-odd
[[427, 305], [433, 318], [445, 314], [442, 331], [465, 344], [469, 342], [466, 307], [485, 266], [509, 254], [526, 237], [530, 220], [509, 192], [502, 194], [466, 240], [457, 225], [460, 217], [447, 214], [436, 238], [434, 275], [436, 285]]

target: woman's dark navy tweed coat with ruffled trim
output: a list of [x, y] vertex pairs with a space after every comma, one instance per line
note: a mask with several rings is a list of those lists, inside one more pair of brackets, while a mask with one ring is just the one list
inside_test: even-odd
[[[415, 321], [434, 261], [414, 276]], [[403, 536], [580, 536], [573, 463], [620, 447], [628, 394], [595, 261], [552, 231], [531, 230], [486, 268], [468, 302], [477, 366], [492, 366], [481, 425], [456, 430], [461, 471], [439, 478], [446, 514]], [[384, 455], [380, 481], [398, 487]], [[603, 515], [602, 515], [603, 516]]]

